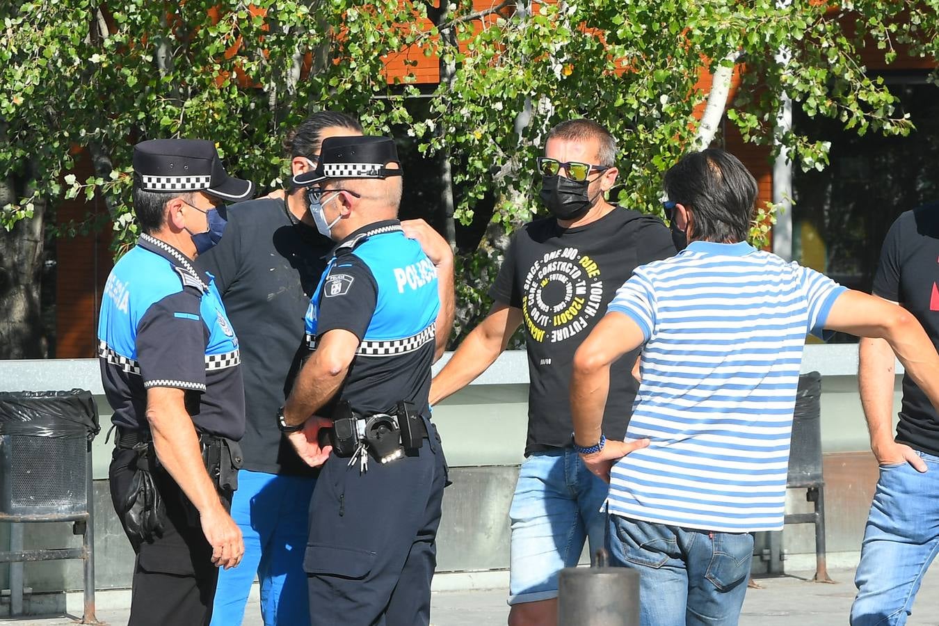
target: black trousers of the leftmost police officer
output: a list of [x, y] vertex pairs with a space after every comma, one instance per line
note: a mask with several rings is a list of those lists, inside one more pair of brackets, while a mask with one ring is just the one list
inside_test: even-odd
[[[118, 517], [137, 459], [134, 450], [115, 448], [108, 476]], [[129, 626], [208, 624], [219, 576], [211, 562], [212, 547], [202, 534], [198, 511], [177, 482], [162, 468], [156, 470], [154, 481], [166, 517], [162, 536], [141, 543], [136, 551]]]

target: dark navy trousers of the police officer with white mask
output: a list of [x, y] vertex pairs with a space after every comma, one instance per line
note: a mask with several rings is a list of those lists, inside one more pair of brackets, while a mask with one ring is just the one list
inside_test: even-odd
[[414, 454], [387, 465], [331, 454], [310, 503], [303, 561], [313, 626], [430, 622], [440, 502], [447, 480], [436, 429]]

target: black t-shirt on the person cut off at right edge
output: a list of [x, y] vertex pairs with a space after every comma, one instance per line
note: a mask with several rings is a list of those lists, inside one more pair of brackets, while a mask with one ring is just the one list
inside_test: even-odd
[[[874, 276], [873, 294], [913, 313], [939, 349], [939, 203], [903, 213], [890, 227]], [[939, 454], [939, 417], [909, 374], [903, 375], [903, 403], [897, 441]]]

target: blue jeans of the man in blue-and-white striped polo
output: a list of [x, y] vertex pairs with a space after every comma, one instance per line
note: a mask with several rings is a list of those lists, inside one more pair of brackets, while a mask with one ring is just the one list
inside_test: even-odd
[[609, 515], [610, 564], [639, 570], [641, 626], [735, 626], [753, 559], [749, 533]]

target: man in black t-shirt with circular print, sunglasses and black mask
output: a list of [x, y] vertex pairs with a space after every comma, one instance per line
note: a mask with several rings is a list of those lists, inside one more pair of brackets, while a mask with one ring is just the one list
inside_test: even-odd
[[[516, 233], [489, 290], [492, 310], [431, 388], [435, 404], [462, 389], [524, 324], [529, 425], [510, 511], [512, 626], [556, 623], [558, 573], [577, 563], [585, 540], [592, 551], [603, 546], [599, 511], [607, 485], [587, 471], [571, 440], [567, 394], [574, 352], [633, 268], [675, 252], [662, 221], [605, 198], [616, 182], [615, 159], [615, 140], [591, 120], [550, 130], [538, 170], [551, 217]], [[627, 361], [617, 367], [604, 417], [610, 438], [623, 438], [636, 395]]]

